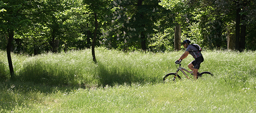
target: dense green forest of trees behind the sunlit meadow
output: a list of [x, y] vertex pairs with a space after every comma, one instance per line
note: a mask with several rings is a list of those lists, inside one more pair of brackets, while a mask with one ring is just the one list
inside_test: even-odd
[[106, 47], [123, 51], [256, 50], [255, 0], [0, 0], [0, 49], [37, 55]]

